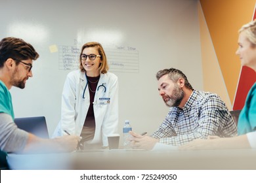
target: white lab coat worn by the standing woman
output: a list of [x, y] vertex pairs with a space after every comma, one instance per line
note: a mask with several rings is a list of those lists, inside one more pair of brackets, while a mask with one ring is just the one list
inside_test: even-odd
[[[62, 92], [61, 120], [56, 127], [53, 137], [62, 136], [68, 131], [72, 135], [81, 135], [83, 124], [90, 105], [89, 87], [83, 91], [87, 84], [85, 73], [72, 71], [68, 74]], [[104, 84], [104, 88], [98, 86]], [[108, 135], [117, 133], [118, 125], [118, 80], [113, 73], [100, 74], [100, 80], [95, 92], [93, 110], [95, 113], [95, 137], [90, 144], [102, 142], [108, 146]], [[100, 105], [99, 98], [110, 98], [110, 103]]]

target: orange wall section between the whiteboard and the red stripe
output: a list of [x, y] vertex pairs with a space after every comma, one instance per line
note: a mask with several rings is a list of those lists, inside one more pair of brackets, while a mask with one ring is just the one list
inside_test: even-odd
[[200, 0], [230, 101], [234, 101], [241, 71], [238, 29], [253, 18], [255, 0]]

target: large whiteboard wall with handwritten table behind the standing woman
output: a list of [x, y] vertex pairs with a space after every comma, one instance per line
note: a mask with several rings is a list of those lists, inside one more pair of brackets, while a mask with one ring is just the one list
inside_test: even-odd
[[203, 88], [197, 3], [1, 2], [1, 39], [20, 37], [40, 54], [26, 88], [11, 89], [15, 117], [45, 116], [51, 135], [60, 120], [66, 75], [78, 69], [75, 54], [85, 42], [97, 41], [119, 78], [119, 133], [125, 120], [134, 131], [153, 133], [169, 110], [158, 94], [157, 71], [181, 69], [194, 88]]

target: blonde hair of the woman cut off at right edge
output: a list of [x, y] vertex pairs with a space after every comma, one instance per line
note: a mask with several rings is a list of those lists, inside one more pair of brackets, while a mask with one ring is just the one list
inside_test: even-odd
[[256, 19], [243, 25], [238, 32], [244, 32], [249, 42], [251, 42], [251, 46], [256, 46]]

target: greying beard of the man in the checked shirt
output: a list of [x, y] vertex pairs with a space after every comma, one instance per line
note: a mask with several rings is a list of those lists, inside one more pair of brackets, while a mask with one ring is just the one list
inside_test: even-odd
[[168, 101], [165, 101], [165, 105], [168, 107], [178, 107], [181, 104], [181, 101], [184, 97], [184, 92], [179, 88], [178, 84], [175, 84], [175, 88], [173, 90], [173, 93], [171, 95], [167, 95]]

